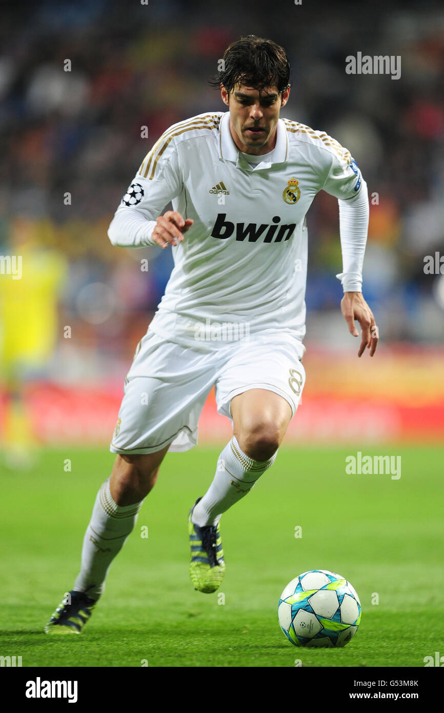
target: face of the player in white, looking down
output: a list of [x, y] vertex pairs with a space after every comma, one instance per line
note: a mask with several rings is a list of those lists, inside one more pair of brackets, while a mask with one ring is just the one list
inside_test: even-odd
[[259, 90], [237, 84], [228, 94], [222, 87], [222, 100], [229, 107], [229, 128], [234, 143], [243, 153], [269, 153], [276, 144], [279, 112], [290, 90], [279, 94], [277, 86]]

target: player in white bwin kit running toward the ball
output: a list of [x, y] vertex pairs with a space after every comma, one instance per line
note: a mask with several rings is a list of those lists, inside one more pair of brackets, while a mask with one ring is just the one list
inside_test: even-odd
[[175, 266], [125, 379], [110, 446], [117, 456], [95, 500], [81, 571], [47, 632], [81, 632], [165, 453], [197, 443], [213, 386], [233, 436], [188, 531], [195, 589], [220, 586], [220, 516], [273, 465], [304, 388], [305, 217], [319, 190], [339, 200], [342, 313], [351, 334], [355, 320], [361, 326], [358, 356], [375, 353], [377, 327], [361, 292], [366, 183], [337, 141], [280, 118], [289, 73], [276, 43], [252, 35], [232, 43], [217, 78], [227, 111], [167, 129], [115, 212], [113, 245], [171, 248]]

